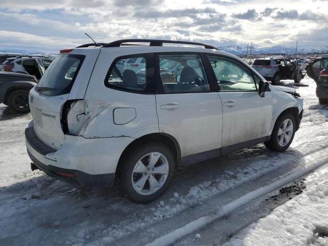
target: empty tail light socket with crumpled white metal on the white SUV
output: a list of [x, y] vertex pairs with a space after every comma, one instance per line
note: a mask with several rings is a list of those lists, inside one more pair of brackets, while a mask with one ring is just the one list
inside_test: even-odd
[[89, 123], [108, 107], [100, 100], [69, 100], [63, 108], [63, 131], [65, 134], [82, 136]]

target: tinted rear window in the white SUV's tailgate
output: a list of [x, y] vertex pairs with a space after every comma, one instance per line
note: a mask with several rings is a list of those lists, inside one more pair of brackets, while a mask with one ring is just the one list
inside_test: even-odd
[[48, 96], [70, 93], [84, 58], [84, 55], [58, 55], [40, 79], [35, 90]]

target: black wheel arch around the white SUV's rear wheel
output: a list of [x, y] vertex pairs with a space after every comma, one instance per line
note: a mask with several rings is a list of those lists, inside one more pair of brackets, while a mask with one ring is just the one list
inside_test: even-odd
[[175, 157], [175, 163], [176, 163], [175, 168], [178, 168], [178, 166], [180, 164], [180, 159], [181, 159], [181, 150], [180, 150], [180, 145], [179, 145], [178, 141], [175, 139], [175, 137], [173, 137], [167, 133], [150, 133], [150, 134], [144, 135], [142, 137], [139, 137], [139, 138], [133, 140], [125, 148], [125, 150], [120, 155], [118, 163], [117, 163], [116, 172], [115, 172], [116, 178], [119, 177], [119, 172], [120, 172], [121, 168], [123, 167], [122, 164], [124, 163], [127, 153], [131, 149], [136, 148], [136, 147], [138, 147], [142, 144], [145, 144], [146, 142], [150, 142], [150, 141], [161, 142], [161, 143], [165, 144], [166, 146], [168, 146], [170, 148], [170, 150], [173, 152], [173, 155]]

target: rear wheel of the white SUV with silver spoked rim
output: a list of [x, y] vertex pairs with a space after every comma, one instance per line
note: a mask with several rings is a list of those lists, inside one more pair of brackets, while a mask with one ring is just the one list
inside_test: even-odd
[[122, 165], [121, 185], [128, 199], [146, 203], [160, 197], [170, 186], [175, 159], [169, 148], [153, 142], [129, 153]]

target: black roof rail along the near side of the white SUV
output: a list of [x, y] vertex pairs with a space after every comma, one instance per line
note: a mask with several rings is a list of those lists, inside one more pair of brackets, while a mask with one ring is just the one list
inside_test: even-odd
[[177, 41], [177, 40], [160, 40], [160, 39], [121, 39], [116, 40], [114, 42], [108, 43], [103, 46], [104, 47], [120, 47], [121, 45], [128, 45], [124, 43], [150, 43], [149, 46], [163, 46], [163, 43], [167, 44], [183, 44], [183, 45], [199, 45], [204, 46], [205, 49], [215, 49], [212, 45], [196, 43], [196, 42], [189, 42], [189, 41]]

